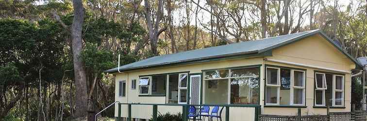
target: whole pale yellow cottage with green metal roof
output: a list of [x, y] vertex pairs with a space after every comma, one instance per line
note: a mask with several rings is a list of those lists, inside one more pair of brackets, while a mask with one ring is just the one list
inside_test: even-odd
[[106, 72], [116, 76], [116, 117], [144, 121], [154, 110], [185, 114], [184, 105], [208, 105], [224, 107], [218, 111], [223, 121], [256, 121], [259, 114], [297, 115], [298, 108], [301, 115], [326, 114], [327, 106], [350, 111], [356, 69], [361, 65], [347, 52], [311, 30], [156, 56]]

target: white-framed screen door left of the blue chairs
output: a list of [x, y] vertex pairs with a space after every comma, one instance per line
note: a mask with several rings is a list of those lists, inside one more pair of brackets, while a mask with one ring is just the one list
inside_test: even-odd
[[190, 76], [190, 104], [200, 105], [201, 75]]

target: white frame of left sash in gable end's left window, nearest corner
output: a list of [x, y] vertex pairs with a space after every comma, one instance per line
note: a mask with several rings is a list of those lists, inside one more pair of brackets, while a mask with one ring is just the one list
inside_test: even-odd
[[[277, 71], [277, 84], [276, 85], [274, 85], [274, 84], [268, 84], [267, 83], [267, 79], [268, 79], [268, 77], [267, 77], [267, 69], [268, 68], [270, 68], [270, 69], [277, 69], [278, 71]], [[277, 67], [267, 67], [266, 68], [266, 84], [267, 84], [267, 86], [266, 86], [266, 88], [265, 88], [265, 90], [267, 89], [267, 87], [275, 87], [275, 88], [277, 88], [277, 103], [276, 104], [274, 104], [274, 103], [267, 103], [267, 102], [265, 102], [265, 105], [280, 105], [280, 87], [281, 87], [281, 82], [280, 82], [280, 70], [281, 70], [281, 68], [277, 68]], [[267, 96], [267, 95], [266, 95]], [[266, 97], [265, 97], [266, 98]]]

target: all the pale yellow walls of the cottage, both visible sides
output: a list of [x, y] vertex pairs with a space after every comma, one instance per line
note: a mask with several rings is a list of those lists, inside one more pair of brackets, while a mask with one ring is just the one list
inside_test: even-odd
[[[276, 59], [281, 61], [296, 62], [301, 64], [308, 64], [326, 68], [333, 68], [338, 70], [350, 71], [352, 63], [347, 57], [340, 53], [333, 45], [323, 39], [320, 35], [314, 35], [311, 37], [304, 38], [298, 42], [285, 45], [274, 49], [272, 52], [273, 56], [266, 57], [268, 59]], [[165, 104], [166, 97], [138, 97], [138, 86], [136, 90], [131, 90], [131, 80], [136, 79], [138, 85], [139, 76], [142, 75], [154, 75], [154, 74], [164, 74], [164, 73], [175, 73], [189, 71], [189, 73], [201, 73], [201, 70], [206, 69], [217, 69], [217, 68], [227, 68], [227, 67], [237, 67], [246, 65], [257, 65], [257, 64], [271, 64], [286, 67], [295, 67], [306, 69], [306, 106], [307, 108], [302, 108], [302, 115], [312, 115], [312, 114], [325, 114], [325, 108], [313, 108], [314, 100], [314, 69], [306, 68], [300, 66], [287, 65], [282, 63], [275, 63], [270, 61], [263, 61], [263, 58], [248, 58], [248, 59], [232, 59], [225, 61], [211, 61], [203, 62], [200, 64], [189, 64], [180, 66], [170, 66], [161, 67], [154, 69], [145, 69], [138, 71], [125, 72], [123, 74], [116, 74], [116, 81], [126, 80], [127, 94], [126, 97], [118, 97], [118, 93], [115, 95], [115, 100], [121, 103], [150, 103], [150, 104]], [[262, 105], [262, 114], [276, 114], [276, 115], [296, 115], [297, 108], [290, 107], [264, 107], [264, 66], [260, 68], [260, 105]], [[318, 69], [316, 69], [318, 70]], [[324, 70], [318, 70], [324, 71]], [[350, 74], [345, 74], [345, 107], [342, 109], [331, 109], [332, 112], [335, 111], [350, 111]], [[116, 87], [118, 87], [116, 83]], [[205, 85], [205, 83], [203, 84]], [[218, 85], [219, 86], [219, 85]], [[115, 92], [118, 92], [117, 89]], [[205, 97], [205, 95], [203, 95]], [[126, 106], [122, 106], [122, 116], [127, 116]], [[236, 108], [234, 108], [235, 110]], [[252, 110], [253, 108], [249, 108]], [[117, 105], [115, 108], [115, 116], [117, 116]], [[132, 116], [133, 118], [150, 119], [151, 117], [151, 106], [133, 106]], [[180, 106], [166, 106], [158, 107], [158, 110], [167, 111], [172, 110], [173, 112], [180, 112], [182, 108]], [[279, 111], [282, 110], [282, 111]], [[231, 110], [230, 110], [231, 112]], [[234, 111], [243, 112], [243, 111]], [[253, 117], [253, 113], [248, 113], [252, 111], [245, 111], [241, 113], [242, 116], [247, 115], [247, 117]], [[162, 113], [162, 112], [161, 112]], [[241, 116], [241, 117], [242, 117]], [[232, 116], [231, 116], [232, 118]], [[243, 119], [231, 119], [231, 121], [243, 121]], [[253, 121], [253, 120], [249, 120]]]

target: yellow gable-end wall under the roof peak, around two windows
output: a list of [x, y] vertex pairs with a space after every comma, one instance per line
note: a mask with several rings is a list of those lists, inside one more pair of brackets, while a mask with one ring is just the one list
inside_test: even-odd
[[[320, 35], [307, 37], [303, 40], [290, 45], [285, 45], [273, 50], [273, 56], [268, 59], [276, 59], [282, 61], [290, 61], [313, 66], [332, 68], [337, 70], [350, 71], [353, 65], [346, 56], [338, 51], [332, 44], [323, 39]], [[325, 71], [313, 68], [305, 68], [300, 66], [292, 66], [287, 64], [266, 61], [266, 64], [280, 65], [294, 68], [306, 69], [306, 106], [301, 108], [302, 115], [326, 114], [326, 108], [313, 108], [314, 106], [314, 70]], [[330, 71], [326, 71], [330, 72]], [[337, 73], [337, 72], [335, 72]], [[331, 112], [350, 111], [350, 93], [351, 93], [351, 77], [345, 74], [345, 107], [342, 109], [330, 109]], [[279, 110], [282, 110], [281, 112]], [[263, 114], [276, 115], [297, 115], [297, 108], [279, 108], [265, 107]]]

